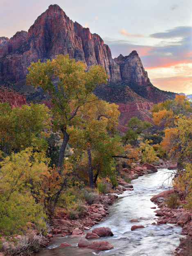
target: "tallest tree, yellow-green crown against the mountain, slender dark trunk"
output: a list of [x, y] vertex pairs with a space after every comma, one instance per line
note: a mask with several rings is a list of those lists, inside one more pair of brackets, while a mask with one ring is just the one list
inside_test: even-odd
[[[40, 86], [50, 95], [53, 108], [54, 131], [61, 131], [63, 144], [59, 153], [58, 168], [61, 173], [66, 145], [69, 141], [67, 128], [77, 126], [81, 120], [80, 107], [87, 104], [89, 95], [97, 84], [106, 81], [107, 75], [101, 66], [93, 66], [88, 71], [86, 65], [71, 60], [69, 55], [58, 55], [45, 63], [38, 62], [28, 68], [27, 84]], [[77, 114], [78, 113], [78, 114]]]

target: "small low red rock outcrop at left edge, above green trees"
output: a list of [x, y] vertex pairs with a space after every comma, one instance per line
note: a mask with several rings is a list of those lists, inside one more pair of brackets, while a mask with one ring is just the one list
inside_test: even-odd
[[27, 104], [25, 95], [3, 86], [0, 87], [0, 102], [8, 102], [11, 108], [20, 108]]

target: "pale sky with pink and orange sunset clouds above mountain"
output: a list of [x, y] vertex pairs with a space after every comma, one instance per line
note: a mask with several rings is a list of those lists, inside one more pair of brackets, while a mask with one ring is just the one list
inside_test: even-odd
[[51, 4], [102, 37], [113, 58], [136, 50], [157, 88], [192, 94], [191, 0], [0, 0], [0, 37], [27, 31]]

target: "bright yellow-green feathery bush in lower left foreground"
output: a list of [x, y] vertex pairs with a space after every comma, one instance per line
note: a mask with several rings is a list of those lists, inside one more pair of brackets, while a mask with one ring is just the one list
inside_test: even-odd
[[27, 222], [45, 230], [45, 214], [36, 203], [31, 184], [41, 178], [45, 157], [27, 148], [6, 157], [0, 168], [0, 229], [4, 234], [22, 233]]

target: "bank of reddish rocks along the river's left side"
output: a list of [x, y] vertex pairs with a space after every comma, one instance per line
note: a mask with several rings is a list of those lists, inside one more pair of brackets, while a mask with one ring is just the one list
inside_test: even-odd
[[[123, 169], [123, 172], [126, 173], [126, 177], [129, 177], [131, 180], [137, 178], [138, 176], [153, 173], [156, 171], [156, 167], [149, 164], [140, 164], [134, 166], [134, 168], [132, 169]], [[113, 189], [113, 191], [111, 192], [116, 194], [122, 194], [123, 191], [132, 189], [132, 185], [125, 182], [124, 179], [119, 178], [118, 187], [116, 187], [115, 190]], [[62, 212], [61, 209], [61, 211], [58, 211], [58, 214], [54, 216], [54, 219], [52, 219], [52, 226], [49, 227], [49, 233], [46, 235], [46, 237], [41, 237], [42, 240], [40, 246], [46, 247], [54, 237], [63, 237], [66, 235], [84, 235], [84, 231], [89, 230], [94, 224], [97, 224], [99, 223], [99, 221], [104, 220], [105, 216], [108, 215], [108, 207], [114, 203], [116, 198], [117, 195], [99, 194], [96, 198], [96, 201], [94, 201], [91, 205], [86, 204], [84, 213], [81, 215], [81, 217], [78, 217], [77, 219], [70, 219], [67, 214]], [[33, 232], [36, 232], [36, 235], [38, 236], [38, 231], [35, 230], [35, 227]]]

